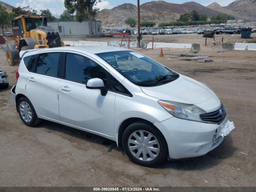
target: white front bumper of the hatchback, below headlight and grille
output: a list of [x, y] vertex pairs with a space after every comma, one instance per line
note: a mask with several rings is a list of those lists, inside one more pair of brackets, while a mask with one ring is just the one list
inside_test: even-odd
[[227, 121], [226, 117], [217, 125], [172, 117], [154, 125], [166, 139], [169, 157], [182, 159], [202, 156], [219, 146], [224, 140], [221, 130]]

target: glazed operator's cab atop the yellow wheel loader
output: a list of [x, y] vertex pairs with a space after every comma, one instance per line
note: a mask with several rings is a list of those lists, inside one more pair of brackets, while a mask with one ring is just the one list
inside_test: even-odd
[[30, 30], [36, 29], [38, 26], [47, 26], [47, 18], [21, 15], [12, 20], [12, 33], [14, 37], [30, 37]]

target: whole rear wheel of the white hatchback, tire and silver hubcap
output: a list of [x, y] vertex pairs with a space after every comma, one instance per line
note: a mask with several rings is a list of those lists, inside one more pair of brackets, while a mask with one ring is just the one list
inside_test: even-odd
[[40, 123], [40, 119], [37, 117], [34, 107], [26, 97], [21, 97], [18, 100], [18, 113], [21, 120], [27, 126], [35, 126]]

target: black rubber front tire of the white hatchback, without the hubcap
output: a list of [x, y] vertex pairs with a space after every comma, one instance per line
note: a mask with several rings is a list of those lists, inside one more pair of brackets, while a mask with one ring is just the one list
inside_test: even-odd
[[[158, 156], [152, 160], [152, 161], [142, 161], [137, 159], [129, 150], [128, 146], [128, 139], [130, 135], [138, 130], [143, 130], [146, 132], [149, 132], [152, 134], [157, 140], [160, 145], [160, 152]], [[156, 167], [160, 164], [162, 164], [168, 155], [168, 146], [166, 143], [166, 140], [162, 133], [154, 127], [152, 124], [149, 124], [147, 122], [143, 121], [137, 121], [132, 124], [130, 124], [126, 130], [124, 131], [123, 137], [122, 137], [122, 146], [127, 154], [127, 156], [130, 158], [130, 160], [138, 165], [146, 166], [146, 167]]]

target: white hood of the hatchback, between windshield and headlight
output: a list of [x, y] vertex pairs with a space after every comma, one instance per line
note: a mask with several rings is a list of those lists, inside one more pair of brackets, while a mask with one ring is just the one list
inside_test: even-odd
[[141, 87], [141, 89], [154, 98], [186, 104], [199, 104], [214, 96], [207, 86], [183, 75], [173, 82], [155, 87]]

